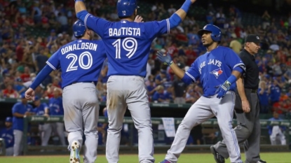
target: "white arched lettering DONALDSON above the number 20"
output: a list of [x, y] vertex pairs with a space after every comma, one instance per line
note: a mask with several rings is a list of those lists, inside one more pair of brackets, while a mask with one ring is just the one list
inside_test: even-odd
[[74, 50], [97, 50], [97, 44], [96, 43], [74, 43], [72, 45], [67, 45], [61, 49], [62, 55], [65, 55], [67, 52], [71, 52]]

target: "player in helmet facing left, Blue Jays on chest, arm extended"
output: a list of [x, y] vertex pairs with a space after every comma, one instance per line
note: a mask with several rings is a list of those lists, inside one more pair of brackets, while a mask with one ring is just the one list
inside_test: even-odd
[[[162, 163], [177, 162], [191, 129], [213, 116], [217, 117], [231, 162], [242, 162], [236, 133], [231, 122], [234, 115], [236, 80], [245, 71], [245, 65], [233, 50], [219, 46], [222, 34], [215, 25], [207, 24], [198, 31], [198, 35], [202, 37], [202, 43], [207, 48], [207, 52], [198, 57], [187, 72], [173, 63], [168, 53], [158, 52], [158, 59], [163, 64], [169, 65], [184, 83], [190, 84], [200, 79], [203, 85], [203, 96], [189, 108]], [[219, 85], [218, 88], [217, 85]]]

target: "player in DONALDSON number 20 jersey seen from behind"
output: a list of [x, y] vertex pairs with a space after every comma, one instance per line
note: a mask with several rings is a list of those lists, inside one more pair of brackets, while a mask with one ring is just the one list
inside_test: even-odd
[[[48, 74], [62, 70], [62, 105], [68, 135], [70, 162], [79, 163], [79, 150], [86, 136], [84, 162], [93, 163], [97, 158], [97, 121], [99, 104], [95, 85], [106, 59], [102, 41], [92, 41], [93, 31], [87, 29], [82, 21], [73, 25], [76, 41], [67, 43], [55, 52], [46, 62], [25, 95], [34, 99], [34, 89]], [[53, 110], [50, 110], [53, 111]]]

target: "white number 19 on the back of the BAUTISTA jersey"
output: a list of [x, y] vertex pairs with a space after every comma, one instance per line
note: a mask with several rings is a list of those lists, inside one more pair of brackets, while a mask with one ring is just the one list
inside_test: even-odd
[[123, 41], [119, 38], [118, 40], [114, 41], [112, 45], [115, 47], [115, 58], [121, 59], [121, 47], [128, 51], [126, 57], [131, 58], [135, 54], [137, 50], [137, 40], [132, 37], [124, 38]]

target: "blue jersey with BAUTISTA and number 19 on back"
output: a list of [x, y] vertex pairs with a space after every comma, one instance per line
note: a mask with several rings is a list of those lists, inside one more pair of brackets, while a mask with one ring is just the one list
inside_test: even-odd
[[159, 22], [109, 22], [88, 13], [83, 21], [103, 40], [108, 58], [108, 76], [142, 76], [147, 74], [151, 42], [170, 32], [168, 19]]

